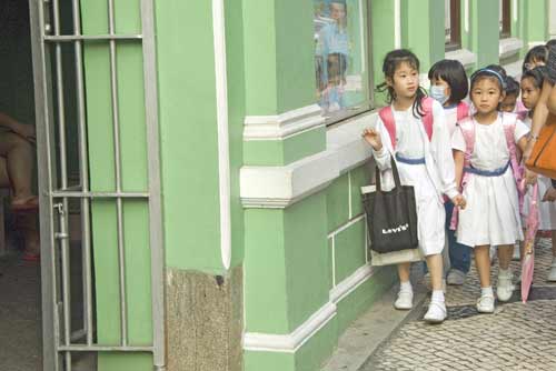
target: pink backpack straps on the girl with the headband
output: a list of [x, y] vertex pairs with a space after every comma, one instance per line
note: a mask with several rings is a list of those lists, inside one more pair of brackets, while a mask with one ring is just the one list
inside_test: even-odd
[[[516, 180], [519, 193], [519, 209], [522, 209], [523, 195], [524, 195], [520, 186], [523, 179], [523, 168], [519, 167], [519, 161], [517, 157], [517, 146], [514, 140], [514, 133], [516, 131], [517, 120], [518, 116], [515, 113], [508, 113], [508, 112], [502, 113], [502, 123], [504, 126], [506, 144], [508, 146], [508, 152], [509, 152], [509, 164], [512, 167], [512, 172], [514, 173], [514, 178]], [[471, 118], [466, 118], [461, 121], [458, 121], [458, 126], [461, 128], [461, 133], [464, 134], [465, 146], [466, 146], [464, 154], [464, 168], [469, 168], [471, 163], [473, 151], [475, 150], [475, 121]], [[465, 189], [468, 181], [469, 181], [469, 173], [464, 171], [464, 176], [461, 179], [461, 189]], [[456, 230], [457, 222], [458, 222], [458, 209], [454, 208], [454, 212], [451, 214], [450, 229]]]

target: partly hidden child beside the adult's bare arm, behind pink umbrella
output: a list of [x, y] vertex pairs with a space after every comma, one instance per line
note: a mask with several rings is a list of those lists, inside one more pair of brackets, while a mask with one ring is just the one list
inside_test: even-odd
[[[540, 97], [540, 90], [543, 88], [543, 72], [539, 69], [533, 69], [530, 71], [525, 71], [522, 77], [522, 99], [527, 109], [529, 109], [529, 114], [525, 120], [525, 124], [530, 128], [533, 114], [535, 112], [535, 107], [537, 106], [538, 99]], [[539, 199], [537, 200], [538, 208], [540, 211], [540, 230], [552, 231], [553, 240], [553, 262], [550, 264], [550, 270], [548, 271], [547, 280], [550, 282], [556, 281], [556, 203], [554, 202], [540, 202], [540, 198], [545, 192], [552, 187], [550, 180], [546, 177], [538, 177], [538, 188], [539, 188]], [[525, 197], [524, 214], [527, 214], [530, 204], [530, 192]]]

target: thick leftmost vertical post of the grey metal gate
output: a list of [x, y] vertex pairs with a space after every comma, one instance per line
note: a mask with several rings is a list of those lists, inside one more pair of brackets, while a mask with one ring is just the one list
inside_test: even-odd
[[[40, 1], [29, 2], [31, 52], [33, 66], [34, 107], [37, 122], [37, 154], [39, 189], [52, 189], [52, 159], [50, 153], [51, 117], [49, 94], [51, 91], [49, 56], [42, 43], [44, 30], [44, 9]], [[56, 249], [53, 239], [53, 209], [50, 197], [40, 194], [40, 239], [41, 239], [41, 281], [42, 281], [42, 364], [44, 370], [60, 370], [56, 351], [59, 343], [59, 322], [57, 311]]]

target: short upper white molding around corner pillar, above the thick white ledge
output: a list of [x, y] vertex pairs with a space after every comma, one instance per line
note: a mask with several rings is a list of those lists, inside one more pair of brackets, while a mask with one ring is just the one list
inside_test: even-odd
[[318, 104], [275, 116], [247, 116], [244, 122], [244, 140], [284, 140], [316, 128], [322, 128], [325, 120]]

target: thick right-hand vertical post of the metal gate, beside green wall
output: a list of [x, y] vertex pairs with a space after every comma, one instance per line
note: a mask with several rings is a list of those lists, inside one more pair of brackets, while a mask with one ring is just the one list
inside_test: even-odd
[[143, 34], [145, 117], [149, 166], [149, 232], [152, 292], [153, 363], [157, 371], [166, 369], [166, 258], [162, 233], [162, 205], [160, 194], [160, 149], [158, 126], [157, 53], [155, 40], [153, 0], [141, 0], [141, 28]]

